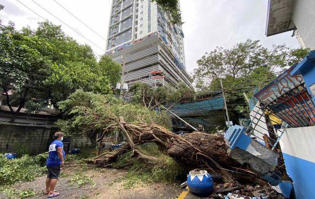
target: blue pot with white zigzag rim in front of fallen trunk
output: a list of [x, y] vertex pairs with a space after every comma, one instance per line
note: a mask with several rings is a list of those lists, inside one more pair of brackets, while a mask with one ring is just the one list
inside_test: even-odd
[[206, 170], [192, 170], [187, 178], [189, 190], [198, 196], [208, 196], [213, 192], [213, 182]]

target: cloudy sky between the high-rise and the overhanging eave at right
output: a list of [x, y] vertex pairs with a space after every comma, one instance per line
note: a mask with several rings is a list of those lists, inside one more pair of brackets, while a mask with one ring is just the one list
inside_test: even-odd
[[180, 0], [180, 4], [188, 71], [205, 52], [216, 46], [231, 48], [247, 38], [259, 39], [268, 48], [283, 43], [299, 46], [292, 33], [265, 36], [268, 0]]

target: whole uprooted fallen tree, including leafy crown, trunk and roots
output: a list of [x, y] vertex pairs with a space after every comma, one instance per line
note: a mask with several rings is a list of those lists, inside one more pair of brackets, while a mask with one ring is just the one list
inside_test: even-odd
[[[223, 136], [201, 132], [184, 136], [172, 133], [163, 127], [168, 124], [165, 121], [170, 119], [165, 113], [157, 113], [137, 104], [127, 104], [112, 96], [81, 90], [72, 94], [60, 106], [69, 113], [66, 120], [58, 122], [63, 132], [100, 133], [97, 139], [98, 154], [90, 160], [98, 167], [112, 167], [117, 160], [126, 157], [126, 154], [130, 154], [127, 157], [130, 161], [121, 164], [120, 168], [132, 167], [135, 162], [142, 162], [147, 168], [167, 169], [165, 161], [171, 159], [185, 168], [186, 174], [195, 168], [206, 169], [212, 176], [218, 177], [214, 179], [216, 184], [228, 183], [229, 189], [249, 184], [270, 188], [268, 182], [253, 172], [249, 165], [241, 165], [229, 157], [230, 149], [225, 145]], [[124, 134], [127, 144], [119, 149], [101, 152], [106, 136], [113, 136], [117, 131]], [[163, 156], [143, 151], [142, 146], [146, 143], [156, 143]], [[223, 185], [219, 188], [226, 188]]]

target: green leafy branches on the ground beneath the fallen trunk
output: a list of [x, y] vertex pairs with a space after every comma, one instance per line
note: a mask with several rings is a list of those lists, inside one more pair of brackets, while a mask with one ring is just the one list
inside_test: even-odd
[[151, 155], [160, 159], [157, 164], [148, 164], [147, 162], [137, 159], [130, 159], [128, 152], [118, 158], [117, 162], [112, 164], [113, 167], [120, 167], [128, 162], [132, 162], [126, 176], [120, 180], [123, 181], [125, 188], [131, 188], [139, 183], [153, 182], [174, 182], [186, 176], [185, 166], [177, 163], [173, 158], [161, 152], [156, 144], [145, 144], [139, 147], [145, 155]]

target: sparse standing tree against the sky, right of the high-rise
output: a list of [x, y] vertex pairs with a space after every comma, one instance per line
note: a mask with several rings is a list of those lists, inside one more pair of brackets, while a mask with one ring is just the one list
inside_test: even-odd
[[293, 49], [286, 45], [268, 49], [259, 40], [247, 39], [229, 49], [217, 47], [206, 52], [197, 61], [193, 79], [198, 91], [221, 90], [222, 79], [228, 110], [233, 117], [248, 111], [243, 93], [251, 97], [255, 88], [270, 83], [308, 52], [309, 49]]

